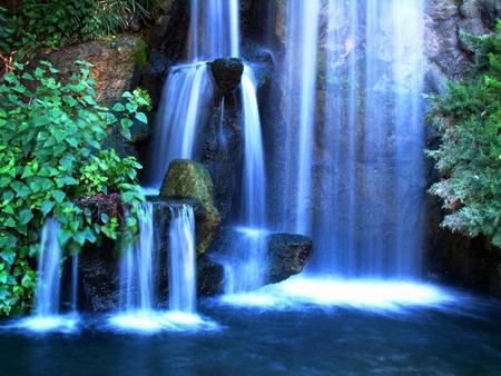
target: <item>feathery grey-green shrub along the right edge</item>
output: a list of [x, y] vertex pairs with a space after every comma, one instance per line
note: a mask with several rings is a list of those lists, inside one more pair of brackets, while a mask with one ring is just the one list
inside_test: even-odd
[[443, 179], [430, 191], [450, 210], [444, 227], [485, 235], [501, 247], [501, 22], [475, 41], [473, 77], [431, 99], [429, 119], [441, 146], [428, 154]]

